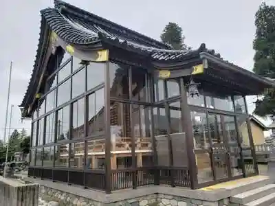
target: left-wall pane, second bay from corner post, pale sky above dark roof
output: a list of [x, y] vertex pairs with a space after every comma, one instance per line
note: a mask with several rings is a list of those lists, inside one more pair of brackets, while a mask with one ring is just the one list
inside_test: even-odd
[[73, 104], [72, 139], [84, 137], [84, 98]]

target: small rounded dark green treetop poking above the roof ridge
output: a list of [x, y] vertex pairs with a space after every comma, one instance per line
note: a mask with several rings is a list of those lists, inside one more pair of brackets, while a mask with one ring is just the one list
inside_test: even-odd
[[185, 36], [182, 34], [182, 28], [173, 22], [169, 22], [160, 35], [163, 43], [171, 45], [174, 49], [187, 50], [190, 49], [184, 44]]

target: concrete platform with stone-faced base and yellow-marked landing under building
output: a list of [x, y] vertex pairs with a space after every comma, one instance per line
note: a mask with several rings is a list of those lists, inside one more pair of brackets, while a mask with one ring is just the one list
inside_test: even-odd
[[[184, 206], [184, 205], [236, 205], [230, 203], [230, 197], [248, 190], [263, 187], [270, 183], [268, 176], [253, 176], [201, 188], [190, 190], [183, 187], [168, 187], [162, 185], [148, 185], [136, 190], [127, 189], [114, 191], [112, 194], [96, 190], [84, 190], [74, 185], [53, 183], [41, 179], [25, 179], [41, 185], [41, 196], [51, 196], [65, 205], [89, 206]], [[241, 205], [241, 204], [238, 204]]]

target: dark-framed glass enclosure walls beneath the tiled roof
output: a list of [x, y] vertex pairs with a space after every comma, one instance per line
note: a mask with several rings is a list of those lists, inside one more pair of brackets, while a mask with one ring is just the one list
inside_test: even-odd
[[47, 78], [33, 114], [29, 175], [109, 193], [195, 189], [256, 173], [243, 95], [200, 82], [191, 97], [182, 77], [80, 62], [66, 54]]

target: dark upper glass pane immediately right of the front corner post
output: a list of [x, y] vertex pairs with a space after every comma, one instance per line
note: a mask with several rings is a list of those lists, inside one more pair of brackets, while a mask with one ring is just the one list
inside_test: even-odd
[[129, 66], [110, 63], [110, 87], [112, 98], [129, 99]]

